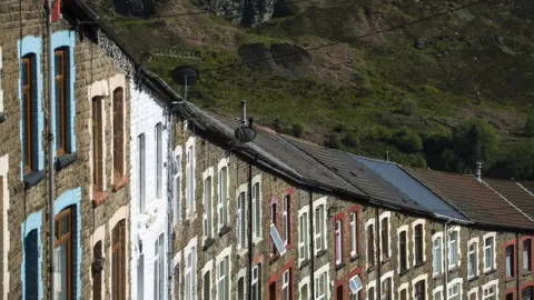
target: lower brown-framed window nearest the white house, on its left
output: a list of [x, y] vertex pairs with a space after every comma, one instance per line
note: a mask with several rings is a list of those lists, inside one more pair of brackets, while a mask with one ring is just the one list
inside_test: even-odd
[[111, 232], [111, 294], [113, 300], [126, 299], [126, 221], [119, 221]]

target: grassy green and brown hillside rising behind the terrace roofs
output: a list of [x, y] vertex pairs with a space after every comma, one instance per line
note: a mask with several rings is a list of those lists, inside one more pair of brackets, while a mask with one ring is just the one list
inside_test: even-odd
[[427, 17], [471, 1], [107, 1], [96, 7], [151, 53], [152, 71], [171, 83], [175, 67], [199, 69], [189, 100], [205, 109], [238, 114], [246, 99], [249, 113], [278, 131], [453, 171], [471, 167], [457, 157], [454, 130], [478, 118], [500, 136], [486, 173], [533, 177], [524, 132], [534, 112], [533, 1], [485, 1], [436, 18]]

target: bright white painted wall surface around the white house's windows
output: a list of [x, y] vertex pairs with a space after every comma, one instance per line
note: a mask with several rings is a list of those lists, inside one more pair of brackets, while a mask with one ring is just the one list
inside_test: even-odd
[[[132, 182], [131, 202], [130, 202], [130, 242], [131, 242], [131, 299], [139, 299], [137, 296], [137, 262], [139, 258], [139, 242], [142, 242], [144, 254], [144, 299], [154, 299], [154, 258], [155, 243], [161, 233], [165, 233], [165, 253], [167, 253], [167, 168], [162, 167], [162, 192], [161, 198], [156, 197], [156, 124], [161, 122], [162, 130], [162, 162], [167, 163], [168, 153], [168, 133], [169, 128], [165, 129], [165, 104], [155, 99], [148, 89], [138, 90], [136, 84], [130, 81], [130, 174]], [[137, 137], [145, 133], [146, 151], [146, 212], [139, 212], [139, 191], [138, 191], [138, 144]], [[167, 258], [165, 260], [167, 262]], [[165, 266], [165, 278], [167, 278], [167, 266]], [[165, 290], [167, 290], [167, 280], [165, 280]], [[167, 297], [167, 292], [165, 292]]]

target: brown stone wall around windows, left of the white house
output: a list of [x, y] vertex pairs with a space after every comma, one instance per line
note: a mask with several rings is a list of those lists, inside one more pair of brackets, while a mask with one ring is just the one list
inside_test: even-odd
[[[2, 34], [0, 37], [0, 47], [2, 48], [2, 70], [3, 78], [1, 79], [1, 87], [3, 91], [3, 112], [6, 119], [0, 123], [0, 157], [9, 156], [9, 198], [4, 198], [3, 207], [9, 207], [9, 219], [6, 223], [6, 232], [9, 231], [9, 252], [4, 259], [6, 272], [9, 272], [9, 288], [4, 286], [4, 299], [20, 299], [22, 298], [22, 277], [23, 268], [23, 241], [24, 237], [22, 230], [28, 231], [31, 227], [39, 230], [38, 241], [40, 244], [41, 256], [39, 258], [39, 296], [47, 297], [48, 294], [48, 211], [47, 198], [48, 187], [46, 178], [29, 189], [24, 188], [21, 176], [21, 160], [22, 160], [22, 144], [21, 144], [21, 106], [19, 97], [20, 82], [20, 48], [19, 44], [24, 38], [33, 37], [34, 41], [40, 43], [33, 44], [37, 48], [34, 51], [40, 51], [39, 60], [36, 62], [39, 66], [39, 73], [42, 78], [42, 89], [39, 90], [39, 103], [42, 107], [42, 129], [47, 126], [48, 106], [47, 93], [47, 37], [42, 10], [42, 1], [18, 1], [4, 2], [0, 8], [0, 23]], [[105, 80], [108, 82], [117, 70], [112, 64], [103, 59], [102, 53], [98, 51], [97, 46], [90, 39], [80, 40], [77, 32], [70, 31], [71, 26], [66, 20], [61, 20], [53, 26], [53, 32], [61, 33], [69, 37], [69, 40], [75, 41], [73, 49], [71, 47], [73, 61], [73, 70], [76, 74], [71, 74], [73, 81], [73, 89], [71, 90], [72, 99], [76, 102], [76, 111], [73, 111], [73, 131], [76, 132], [76, 160], [56, 172], [56, 204], [59, 209], [62, 203], [71, 203], [77, 208], [75, 238], [80, 242], [77, 243], [77, 259], [73, 261], [75, 287], [77, 297], [82, 299], [91, 298], [91, 262], [92, 262], [92, 247], [91, 236], [99, 227], [105, 227], [105, 257], [109, 258], [109, 227], [112, 227], [113, 214], [120, 211], [119, 208], [127, 206], [128, 191], [120, 189], [116, 192], [111, 191], [111, 178], [107, 178], [107, 191], [109, 192], [107, 200], [98, 207], [93, 207], [90, 197], [91, 182], [91, 106], [88, 98], [89, 87], [92, 82]], [[59, 44], [58, 44], [59, 46]], [[26, 46], [24, 46], [26, 47]], [[29, 47], [29, 46], [28, 46]], [[40, 50], [39, 50], [40, 49]], [[31, 49], [30, 49], [31, 50]], [[72, 70], [72, 69], [70, 69]], [[109, 82], [108, 82], [109, 83]], [[109, 86], [108, 86], [109, 88]], [[125, 90], [126, 87], [125, 87]], [[128, 94], [125, 97], [128, 98]], [[126, 101], [125, 99], [125, 101]], [[44, 110], [47, 108], [47, 110]], [[126, 118], [128, 118], [129, 109], [127, 109]], [[106, 121], [111, 123], [111, 110], [106, 107]], [[41, 140], [44, 140], [44, 132], [39, 132]], [[105, 144], [111, 144], [112, 131], [110, 127], [106, 131]], [[42, 170], [47, 171], [47, 147], [43, 141]], [[128, 153], [125, 153], [128, 157]], [[111, 174], [110, 168], [112, 166], [111, 149], [107, 149], [106, 160], [107, 174]], [[8, 206], [9, 204], [9, 206]], [[116, 216], [117, 217], [117, 216]], [[126, 214], [123, 216], [126, 218]], [[122, 218], [122, 219], [123, 219]], [[108, 230], [109, 229], [109, 230]], [[28, 233], [28, 232], [27, 232]], [[6, 236], [4, 236], [6, 237]], [[8, 248], [4, 248], [8, 249]], [[110, 260], [106, 260], [105, 278], [106, 283], [109, 283], [108, 277], [110, 274]], [[6, 281], [4, 281], [6, 282]], [[109, 290], [109, 289], [108, 289]], [[9, 292], [8, 292], [9, 291]]]

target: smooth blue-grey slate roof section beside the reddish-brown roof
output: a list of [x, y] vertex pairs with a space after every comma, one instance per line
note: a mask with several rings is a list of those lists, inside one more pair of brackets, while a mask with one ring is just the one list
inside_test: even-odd
[[355, 157], [355, 159], [379, 174], [384, 180], [388, 181], [426, 210], [461, 221], [469, 221], [465, 216], [456, 211], [427, 187], [404, 171], [398, 164], [364, 157]]

